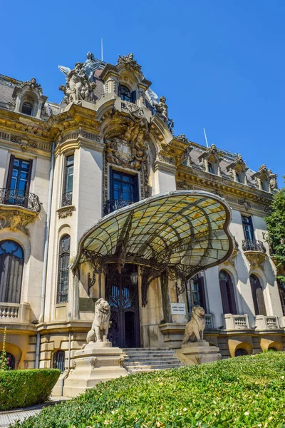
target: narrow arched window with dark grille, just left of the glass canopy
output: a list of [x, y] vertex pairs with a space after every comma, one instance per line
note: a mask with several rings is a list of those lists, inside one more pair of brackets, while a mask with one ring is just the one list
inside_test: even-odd
[[68, 302], [70, 253], [71, 237], [69, 235], [63, 235], [59, 242], [58, 253], [58, 303]]

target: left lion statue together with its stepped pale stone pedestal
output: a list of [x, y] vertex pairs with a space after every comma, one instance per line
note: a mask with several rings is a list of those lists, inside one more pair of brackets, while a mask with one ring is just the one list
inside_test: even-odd
[[87, 335], [87, 344], [76, 351], [73, 359], [75, 368], [64, 382], [65, 397], [76, 397], [86, 389], [95, 387], [98, 382], [128, 376], [127, 370], [122, 367], [123, 350], [112, 347], [112, 343], [107, 339], [109, 320], [108, 302], [104, 299], [97, 300], [94, 321]]

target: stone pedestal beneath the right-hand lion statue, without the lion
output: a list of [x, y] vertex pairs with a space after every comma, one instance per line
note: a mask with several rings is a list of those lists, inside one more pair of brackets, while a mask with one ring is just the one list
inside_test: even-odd
[[185, 343], [180, 350], [176, 350], [176, 356], [186, 365], [202, 364], [221, 359], [219, 348], [210, 346], [206, 340]]

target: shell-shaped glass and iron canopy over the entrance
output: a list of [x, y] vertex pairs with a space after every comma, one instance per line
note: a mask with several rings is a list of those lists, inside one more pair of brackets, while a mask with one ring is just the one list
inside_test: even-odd
[[81, 238], [73, 263], [124, 263], [191, 277], [232, 255], [229, 205], [212, 193], [160, 193], [101, 218]]

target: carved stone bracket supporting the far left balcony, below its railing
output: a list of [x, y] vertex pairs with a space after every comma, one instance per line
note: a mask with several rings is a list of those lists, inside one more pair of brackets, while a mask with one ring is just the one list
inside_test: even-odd
[[21, 230], [27, 236], [30, 236], [30, 232], [26, 228], [26, 225], [28, 225], [28, 223], [31, 223], [36, 217], [36, 215], [36, 213], [23, 213], [20, 210], [1, 210], [0, 229], [9, 228], [12, 232], [16, 232], [16, 230]]

